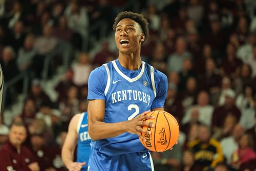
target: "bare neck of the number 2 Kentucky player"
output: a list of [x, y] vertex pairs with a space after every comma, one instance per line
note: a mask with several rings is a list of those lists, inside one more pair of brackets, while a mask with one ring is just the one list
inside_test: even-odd
[[141, 66], [140, 55], [123, 54], [119, 52], [118, 61], [127, 70], [139, 70]]

